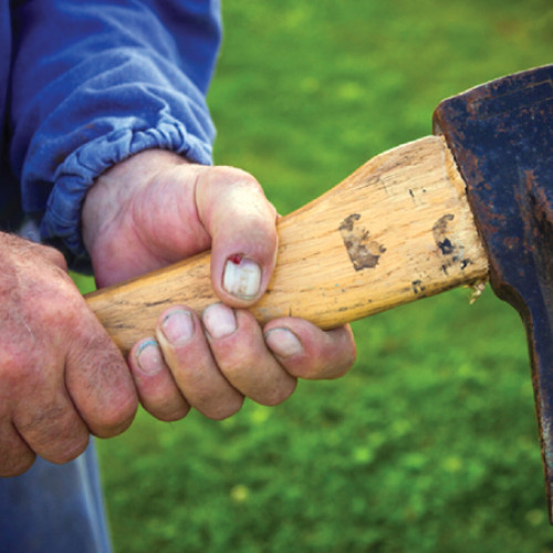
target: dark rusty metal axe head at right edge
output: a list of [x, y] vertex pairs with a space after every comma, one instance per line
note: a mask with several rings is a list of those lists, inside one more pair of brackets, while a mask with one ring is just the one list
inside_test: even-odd
[[553, 65], [445, 100], [434, 128], [467, 184], [492, 288], [526, 327], [553, 523]]

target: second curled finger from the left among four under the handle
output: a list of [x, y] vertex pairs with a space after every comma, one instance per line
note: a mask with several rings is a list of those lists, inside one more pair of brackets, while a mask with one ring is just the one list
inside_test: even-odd
[[167, 310], [157, 325], [157, 338], [173, 377], [192, 407], [216, 420], [240, 410], [243, 396], [217, 367], [194, 312], [179, 306]]

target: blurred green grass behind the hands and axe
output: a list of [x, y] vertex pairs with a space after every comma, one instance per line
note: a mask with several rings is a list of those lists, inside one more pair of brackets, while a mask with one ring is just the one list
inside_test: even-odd
[[[216, 163], [281, 213], [430, 133], [434, 107], [552, 62], [551, 0], [234, 0]], [[344, 379], [98, 444], [117, 553], [553, 552], [524, 333], [488, 290], [357, 322]]]

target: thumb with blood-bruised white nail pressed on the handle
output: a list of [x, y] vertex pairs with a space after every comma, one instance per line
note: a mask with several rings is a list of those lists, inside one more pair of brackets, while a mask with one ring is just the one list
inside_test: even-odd
[[274, 207], [251, 175], [230, 167], [201, 173], [196, 190], [198, 216], [212, 238], [213, 290], [228, 305], [251, 305], [274, 269]]

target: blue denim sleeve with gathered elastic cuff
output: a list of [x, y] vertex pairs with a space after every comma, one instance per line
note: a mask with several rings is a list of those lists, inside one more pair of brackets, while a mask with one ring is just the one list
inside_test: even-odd
[[12, 13], [10, 160], [46, 242], [86, 257], [84, 196], [148, 148], [211, 163], [219, 0], [29, 0]]

